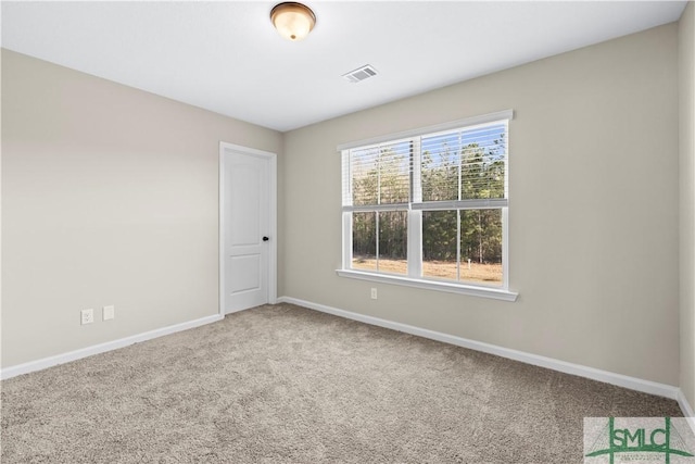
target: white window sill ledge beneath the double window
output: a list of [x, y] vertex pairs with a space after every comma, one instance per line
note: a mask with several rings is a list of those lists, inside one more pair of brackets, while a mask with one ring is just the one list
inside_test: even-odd
[[519, 293], [493, 287], [477, 287], [472, 285], [450, 284], [439, 280], [414, 279], [396, 275], [375, 274], [363, 271], [337, 269], [341, 277], [361, 280], [378, 281], [382, 284], [403, 285], [406, 287], [424, 288], [427, 290], [447, 291], [450, 293], [470, 294], [473, 297], [491, 298], [494, 300], [516, 301]]

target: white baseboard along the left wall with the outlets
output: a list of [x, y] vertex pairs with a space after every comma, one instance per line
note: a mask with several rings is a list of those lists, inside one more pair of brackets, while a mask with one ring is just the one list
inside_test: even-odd
[[22, 374], [28, 374], [35, 371], [41, 371], [47, 367], [55, 366], [59, 364], [68, 363], [71, 361], [80, 360], [83, 358], [91, 356], [93, 354], [104, 353], [106, 351], [124, 348], [132, 343], [140, 341], [151, 340], [153, 338], [163, 337], [165, 335], [175, 334], [177, 331], [187, 330], [189, 328], [200, 327], [202, 325], [212, 324], [224, 318], [220, 314], [213, 316], [201, 317], [195, 321], [189, 321], [181, 324], [175, 324], [168, 327], [162, 327], [154, 330], [146, 331], [130, 337], [121, 338], [118, 340], [108, 341], [105, 343], [94, 344], [79, 350], [70, 351], [63, 354], [56, 354], [50, 358], [43, 358], [37, 361], [30, 361], [28, 363], [18, 364], [16, 366], [4, 367], [0, 369], [0, 379], [15, 377]]

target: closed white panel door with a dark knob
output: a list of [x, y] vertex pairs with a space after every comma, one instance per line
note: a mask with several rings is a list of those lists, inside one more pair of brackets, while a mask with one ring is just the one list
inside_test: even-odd
[[270, 214], [275, 158], [268, 155], [271, 153], [220, 145], [220, 303], [225, 314], [275, 302], [269, 278], [275, 250], [270, 247], [275, 240]]

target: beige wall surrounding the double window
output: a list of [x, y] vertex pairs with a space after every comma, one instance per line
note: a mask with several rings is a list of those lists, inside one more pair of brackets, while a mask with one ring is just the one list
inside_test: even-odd
[[[679, 385], [677, 33], [657, 27], [286, 134], [279, 294]], [[336, 146], [504, 109], [516, 113], [518, 301], [338, 277]]]

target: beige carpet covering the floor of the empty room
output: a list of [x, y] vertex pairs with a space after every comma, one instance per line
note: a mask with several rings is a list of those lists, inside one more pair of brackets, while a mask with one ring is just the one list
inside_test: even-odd
[[581, 463], [674, 401], [289, 305], [2, 381], [12, 463]]

